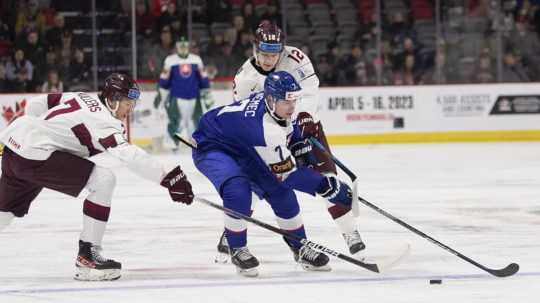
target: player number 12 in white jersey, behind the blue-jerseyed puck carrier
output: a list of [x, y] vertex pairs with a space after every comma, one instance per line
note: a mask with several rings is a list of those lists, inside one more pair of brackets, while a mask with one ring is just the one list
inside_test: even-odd
[[[302, 86], [302, 96], [297, 103], [293, 119], [296, 118], [304, 138], [315, 137], [330, 151], [321, 121], [317, 112], [319, 107], [319, 78], [308, 56], [296, 47], [286, 46], [281, 29], [268, 21], [259, 24], [253, 43], [253, 57], [238, 70], [233, 82], [234, 100], [248, 98], [262, 91], [266, 76], [274, 71], [286, 71]], [[336, 175], [334, 162], [323, 152], [312, 150], [315, 163], [310, 165], [322, 174]], [[328, 212], [338, 225], [351, 254], [365, 248], [351, 208], [340, 204], [327, 203]], [[227, 254], [226, 238], [222, 235], [218, 251]], [[218, 258], [216, 261], [220, 261]], [[226, 260], [226, 259], [225, 259]]]

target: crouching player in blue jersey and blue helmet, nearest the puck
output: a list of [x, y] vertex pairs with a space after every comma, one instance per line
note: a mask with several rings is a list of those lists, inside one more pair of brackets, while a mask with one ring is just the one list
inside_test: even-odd
[[[291, 124], [300, 85], [285, 71], [268, 75], [264, 91], [206, 113], [193, 134], [195, 166], [214, 185], [225, 207], [251, 215], [251, 192], [272, 207], [281, 229], [305, 238], [300, 208], [293, 190], [319, 194], [331, 203], [351, 206], [349, 186], [335, 176], [323, 176], [295, 157], [311, 146]], [[292, 153], [292, 154], [291, 154]], [[258, 274], [258, 260], [247, 248], [247, 224], [225, 215], [225, 235], [237, 271]], [[327, 271], [328, 257], [300, 242], [286, 240], [296, 262], [306, 270]]]

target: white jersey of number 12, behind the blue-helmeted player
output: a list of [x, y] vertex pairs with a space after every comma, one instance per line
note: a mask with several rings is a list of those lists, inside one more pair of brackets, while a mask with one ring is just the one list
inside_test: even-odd
[[[293, 75], [302, 87], [302, 96], [296, 104], [296, 114], [310, 113], [318, 121], [319, 111], [319, 78], [315, 74], [313, 64], [301, 50], [285, 46], [280, 54], [276, 67], [270, 71], [286, 71]], [[248, 98], [251, 94], [264, 90], [264, 80], [270, 73], [256, 65], [255, 58], [249, 58], [238, 70], [233, 82], [233, 97], [235, 101]]]

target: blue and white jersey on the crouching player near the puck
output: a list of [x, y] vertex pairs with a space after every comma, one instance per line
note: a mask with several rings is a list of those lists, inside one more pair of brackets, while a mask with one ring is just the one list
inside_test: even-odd
[[322, 177], [309, 168], [296, 167], [287, 149], [293, 133], [290, 123], [280, 124], [267, 113], [261, 92], [207, 112], [193, 139], [196, 153], [226, 152], [265, 192], [285, 186], [313, 195]]

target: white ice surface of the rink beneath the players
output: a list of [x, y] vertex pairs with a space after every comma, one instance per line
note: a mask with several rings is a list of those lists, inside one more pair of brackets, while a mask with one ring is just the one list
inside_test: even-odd
[[[44, 191], [27, 217], [0, 233], [0, 302], [538, 302], [540, 143], [364, 145], [334, 153], [359, 176], [363, 198], [486, 266], [517, 262], [520, 272], [491, 277], [361, 205], [369, 254], [412, 245], [395, 269], [375, 274], [332, 259], [331, 272], [304, 272], [279, 236], [250, 225], [260, 277], [243, 278], [230, 263], [213, 263], [222, 213], [172, 203], [163, 188], [120, 168], [103, 244], [105, 256], [123, 263], [122, 278], [72, 279], [81, 199]], [[181, 163], [196, 194], [219, 202], [187, 152], [160, 158]], [[346, 252], [324, 203], [300, 200], [308, 237]], [[254, 217], [275, 224], [263, 203]], [[432, 278], [443, 283], [430, 285]]]

